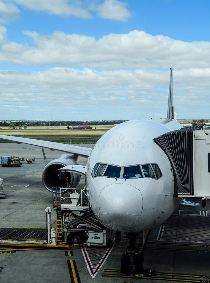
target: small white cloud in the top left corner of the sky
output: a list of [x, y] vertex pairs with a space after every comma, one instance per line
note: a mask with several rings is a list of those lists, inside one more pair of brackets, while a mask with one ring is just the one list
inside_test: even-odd
[[20, 10], [8, 1], [0, 0], [0, 25], [5, 25], [19, 17]]

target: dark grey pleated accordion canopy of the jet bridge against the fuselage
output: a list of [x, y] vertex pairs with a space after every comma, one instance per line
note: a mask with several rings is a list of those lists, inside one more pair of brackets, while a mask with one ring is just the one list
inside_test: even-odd
[[174, 197], [193, 196], [193, 139], [194, 130], [200, 127], [184, 128], [153, 139], [168, 156], [174, 172]]

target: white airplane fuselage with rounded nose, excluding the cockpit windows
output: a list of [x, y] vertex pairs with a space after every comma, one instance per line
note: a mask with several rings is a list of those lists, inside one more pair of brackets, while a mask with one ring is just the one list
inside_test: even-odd
[[[181, 126], [176, 121], [159, 124], [132, 120], [105, 133], [94, 146], [86, 167], [86, 191], [97, 219], [106, 227], [122, 232], [140, 232], [160, 225], [179, 205], [174, 198], [174, 175], [163, 150], [153, 141]], [[119, 178], [92, 177], [96, 163], [121, 167]], [[158, 164], [162, 176], [123, 178], [124, 166]], [[141, 167], [142, 169], [142, 167]]]

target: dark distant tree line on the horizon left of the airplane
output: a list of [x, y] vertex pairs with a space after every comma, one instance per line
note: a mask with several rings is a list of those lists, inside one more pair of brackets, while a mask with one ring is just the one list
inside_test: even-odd
[[[124, 122], [125, 120], [93, 120], [93, 121], [31, 121], [31, 120], [24, 120], [24, 121], [14, 121], [14, 120], [5, 120], [0, 121], [0, 127], [10, 127], [15, 128], [19, 127], [21, 128], [24, 126], [80, 126], [80, 125], [113, 125], [113, 124], [120, 124]], [[25, 128], [26, 128], [25, 127]]]

